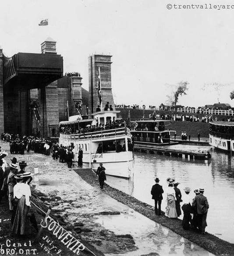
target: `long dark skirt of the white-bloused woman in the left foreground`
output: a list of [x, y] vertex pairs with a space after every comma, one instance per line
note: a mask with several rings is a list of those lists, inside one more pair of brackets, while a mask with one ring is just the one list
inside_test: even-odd
[[14, 234], [26, 235], [31, 233], [29, 218], [29, 207], [26, 205], [25, 196], [22, 196], [18, 202], [12, 231]]

